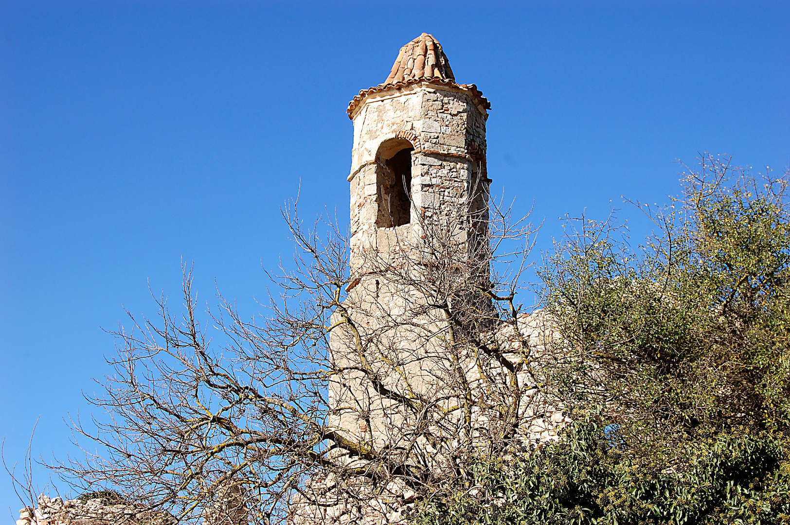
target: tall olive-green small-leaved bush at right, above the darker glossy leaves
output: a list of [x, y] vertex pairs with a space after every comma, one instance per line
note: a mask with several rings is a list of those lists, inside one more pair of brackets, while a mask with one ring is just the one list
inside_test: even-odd
[[639, 204], [641, 246], [577, 223], [541, 272], [561, 334], [544, 395], [606, 407], [634, 454], [665, 461], [692, 431], [790, 430], [788, 182], [706, 158], [671, 204]]

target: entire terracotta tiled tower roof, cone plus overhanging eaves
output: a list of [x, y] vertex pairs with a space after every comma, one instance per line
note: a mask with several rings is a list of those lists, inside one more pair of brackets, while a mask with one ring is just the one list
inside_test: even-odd
[[390, 88], [404, 88], [409, 84], [431, 82], [444, 84], [453, 88], [461, 88], [472, 96], [472, 100], [481, 107], [481, 111], [491, 109], [491, 103], [483, 96], [475, 84], [457, 84], [450, 61], [442, 51], [442, 44], [434, 39], [433, 35], [423, 33], [416, 39], [401, 47], [392, 71], [383, 84], [373, 88], [363, 89], [348, 103], [348, 118], [354, 118], [354, 110], [362, 100], [375, 92], [386, 91]]

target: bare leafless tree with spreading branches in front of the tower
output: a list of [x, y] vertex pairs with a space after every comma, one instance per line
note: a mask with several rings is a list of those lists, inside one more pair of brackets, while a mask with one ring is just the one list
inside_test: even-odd
[[129, 313], [104, 413], [73, 421], [99, 452], [52, 467], [179, 521], [381, 522], [523, 446], [548, 410], [517, 302], [535, 229], [501, 202], [416, 215], [382, 250], [287, 206], [295, 260], [253, 319], [220, 296], [200, 321], [185, 268], [181, 313]]

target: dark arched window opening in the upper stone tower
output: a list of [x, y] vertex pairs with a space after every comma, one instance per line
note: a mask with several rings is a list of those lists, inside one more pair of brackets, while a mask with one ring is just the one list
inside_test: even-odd
[[387, 141], [379, 148], [376, 201], [380, 228], [403, 226], [412, 214], [412, 144], [404, 139]]

